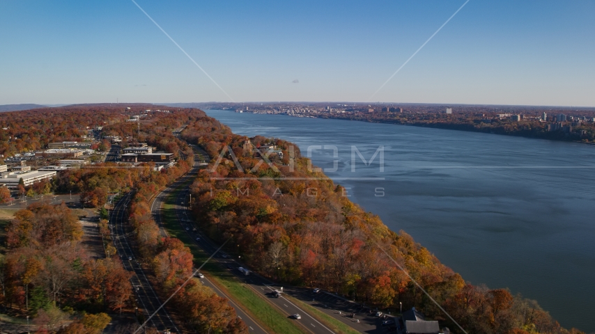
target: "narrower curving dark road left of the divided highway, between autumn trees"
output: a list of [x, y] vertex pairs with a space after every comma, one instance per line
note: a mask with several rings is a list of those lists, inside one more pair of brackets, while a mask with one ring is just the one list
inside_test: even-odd
[[[131, 198], [132, 193], [127, 193], [118, 200], [116, 206], [110, 212], [109, 225], [111, 227], [111, 235], [114, 236], [114, 246], [116, 246], [118, 254], [122, 258], [123, 266], [127, 271], [133, 273], [130, 282], [137, 295], [139, 311], [144, 312], [145, 319], [148, 319], [148, 317], [160, 307], [161, 301], [153, 287], [150, 285], [139, 262], [137, 262], [132, 247], [128, 241], [134, 237], [130, 226], [127, 224], [128, 218], [126, 214], [126, 209]], [[173, 322], [173, 319], [169, 317], [165, 308], [162, 308], [157, 312], [157, 314], [150, 319], [147, 326], [155, 327], [159, 331], [169, 329], [171, 333], [182, 333], [178, 329], [178, 326]]]

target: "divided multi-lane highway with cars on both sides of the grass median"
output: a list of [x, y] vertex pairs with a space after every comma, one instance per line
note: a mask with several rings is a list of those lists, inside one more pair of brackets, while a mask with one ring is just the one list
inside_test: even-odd
[[[192, 172], [188, 173], [188, 175], [186, 175], [186, 177], [188, 177], [188, 178], [194, 177], [194, 175], [195, 175], [194, 173], [196, 173], [198, 170], [198, 167], [196, 166], [197, 159], [198, 158], [195, 159], [194, 168], [192, 169]], [[160, 195], [156, 197], [156, 200], [152, 206], [153, 217], [155, 218], [155, 221], [161, 222], [161, 210], [160, 209], [162, 207], [163, 200], [165, 200], [165, 198], [167, 198], [167, 196], [170, 196], [174, 191], [176, 191], [176, 189], [180, 188], [180, 186], [182, 186], [183, 184], [186, 184], [187, 182], [189, 182], [189, 179], [187, 179], [187, 178], [185, 180], [180, 180], [179, 182], [176, 182], [176, 184], [173, 184], [171, 187], [166, 189], [166, 191], [164, 191], [163, 193], [160, 193]], [[185, 186], [183, 189], [180, 189], [180, 191], [178, 191], [177, 196], [176, 196], [176, 201], [175, 201], [175, 210], [176, 210], [176, 218], [177, 218], [176, 220], [181, 225], [183, 230], [185, 230], [185, 232], [187, 234], [189, 234], [190, 239], [192, 239], [196, 245], [198, 245], [200, 248], [202, 248], [209, 255], [215, 254], [215, 256], [212, 258], [212, 261], [218, 262], [220, 265], [225, 267], [226, 270], [229, 270], [229, 272], [232, 273], [234, 276], [237, 276], [240, 280], [242, 280], [243, 283], [245, 283], [245, 285], [247, 287], [252, 289], [256, 294], [260, 294], [264, 299], [268, 300], [281, 313], [287, 315], [288, 317], [291, 317], [292, 315], [295, 315], [295, 314], [299, 314], [301, 316], [301, 319], [293, 319], [292, 318], [291, 321], [296, 321], [297, 325], [302, 328], [304, 333], [312, 333], [312, 334], [334, 333], [334, 331], [332, 331], [330, 328], [327, 328], [327, 326], [325, 326], [324, 324], [321, 324], [318, 320], [316, 320], [314, 317], [309, 315], [308, 312], [306, 312], [302, 308], [298, 307], [297, 305], [295, 305], [294, 303], [292, 303], [291, 301], [286, 299], [284, 296], [282, 296], [282, 294], [279, 298], [276, 298], [275, 290], [280, 291], [281, 289], [283, 289], [281, 286], [275, 285], [275, 283], [270, 282], [270, 280], [267, 280], [266, 278], [254, 275], [254, 273], [250, 273], [248, 276], [245, 276], [243, 273], [241, 273], [238, 270], [238, 268], [242, 267], [242, 265], [239, 264], [238, 262], [236, 262], [235, 259], [233, 259], [231, 256], [228, 256], [225, 253], [222, 253], [220, 251], [218, 253], [216, 253], [217, 248], [219, 248], [219, 246], [217, 246], [217, 244], [215, 244], [215, 242], [211, 241], [200, 230], [194, 231], [195, 226], [193, 224], [192, 216], [190, 215], [190, 209], [188, 206], [189, 202], [190, 202], [190, 189], [187, 186]], [[162, 226], [160, 226], [160, 227], [162, 227]], [[167, 233], [167, 232], [162, 230], [162, 233]], [[215, 292], [217, 292], [217, 294], [219, 294], [221, 296], [226, 296], [225, 294], [223, 294], [223, 292], [221, 292], [219, 289], [217, 289], [217, 287], [215, 285], [210, 283], [210, 281], [208, 280], [208, 276], [205, 276], [205, 278], [201, 279], [201, 281], [203, 281], [204, 284], [212, 287], [212, 289], [214, 289]], [[229, 299], [229, 296], [226, 296], [226, 297]], [[231, 299], [229, 299], [229, 300], [230, 300], [230, 305], [232, 305], [235, 308], [236, 312], [238, 312], [238, 315], [248, 324], [251, 332], [254, 332], [254, 333], [263, 333], [264, 332], [265, 333], [264, 329], [260, 328], [258, 326], [258, 324], [256, 324], [256, 321], [254, 321], [254, 319], [248, 317], [245, 314], [245, 312], [243, 312], [242, 309], [236, 303], [234, 303], [233, 300], [231, 300]]]

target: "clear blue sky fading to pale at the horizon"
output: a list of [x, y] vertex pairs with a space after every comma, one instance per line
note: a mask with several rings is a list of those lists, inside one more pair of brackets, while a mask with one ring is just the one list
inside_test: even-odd
[[[595, 106], [595, 1], [137, 3], [233, 100]], [[298, 82], [293, 82], [298, 81]], [[230, 101], [130, 0], [0, 0], [0, 104]]]

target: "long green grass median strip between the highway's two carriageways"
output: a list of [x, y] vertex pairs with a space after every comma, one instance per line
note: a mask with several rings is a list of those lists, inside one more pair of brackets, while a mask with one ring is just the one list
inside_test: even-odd
[[[178, 196], [178, 192], [183, 186], [187, 186], [187, 184], [182, 184], [176, 191], [173, 191], [167, 198], [165, 198], [162, 207], [162, 223], [171, 237], [180, 239], [190, 248], [192, 255], [194, 255], [195, 262], [202, 264], [208, 259], [209, 255], [199, 248], [199, 246], [194, 243], [192, 237], [183, 230], [180, 223], [178, 223], [178, 217], [176, 215], [176, 207], [174, 203]], [[210, 280], [214, 281], [219, 287], [223, 287], [224, 290], [226, 290], [225, 292], [233, 298], [233, 301], [240, 303], [251, 316], [258, 319], [258, 322], [265, 327], [270, 328], [272, 332], [288, 334], [304, 333], [302, 329], [296, 324], [293, 324], [286, 315], [273, 308], [272, 305], [261, 298], [261, 296], [258, 296], [252, 289], [247, 287], [237, 277], [233, 276], [233, 274], [229, 273], [229, 271], [222, 268], [216, 262], [207, 262], [201, 271], [210, 273], [210, 276], [208, 277]]]

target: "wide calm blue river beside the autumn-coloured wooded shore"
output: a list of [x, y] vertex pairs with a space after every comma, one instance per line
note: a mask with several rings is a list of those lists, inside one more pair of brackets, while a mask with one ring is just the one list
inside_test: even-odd
[[[236, 134], [296, 143], [304, 156], [311, 147], [314, 165], [350, 188], [351, 200], [411, 234], [465, 280], [508, 287], [539, 301], [562, 326], [595, 332], [595, 147], [348, 120], [207, 114]], [[380, 147], [383, 171], [380, 151], [369, 166], [357, 153], [369, 161]]]

